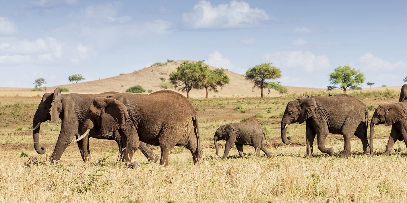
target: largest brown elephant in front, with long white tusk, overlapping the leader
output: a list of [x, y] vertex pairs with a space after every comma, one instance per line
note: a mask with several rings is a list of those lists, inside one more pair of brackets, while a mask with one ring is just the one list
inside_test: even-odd
[[129, 167], [135, 166], [131, 159], [139, 141], [160, 146], [161, 165], [168, 165], [174, 146], [185, 146], [193, 155], [194, 164], [202, 159], [197, 112], [185, 96], [170, 90], [96, 97], [81, 129], [78, 140], [83, 139], [83, 148], [87, 147], [89, 130], [104, 133], [117, 129], [125, 143], [120, 158]]

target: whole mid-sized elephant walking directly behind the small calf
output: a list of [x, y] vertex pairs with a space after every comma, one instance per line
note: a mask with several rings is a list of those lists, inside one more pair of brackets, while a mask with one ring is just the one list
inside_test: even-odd
[[291, 123], [306, 122], [306, 155], [312, 157], [313, 142], [317, 135], [319, 151], [333, 155], [333, 148], [325, 147], [328, 133], [344, 136], [344, 151], [341, 157], [350, 157], [350, 138], [356, 135], [363, 144], [363, 153], [370, 153], [368, 148], [368, 116], [366, 106], [357, 98], [347, 94], [337, 96], [303, 96], [287, 104], [281, 120], [281, 140], [291, 143], [286, 137], [287, 127]]

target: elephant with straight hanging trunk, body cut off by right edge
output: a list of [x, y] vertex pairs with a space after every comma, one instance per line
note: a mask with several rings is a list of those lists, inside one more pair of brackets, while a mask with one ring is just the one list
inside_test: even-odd
[[[394, 146], [394, 142], [403, 141], [407, 146], [407, 103], [382, 104], [374, 111], [370, 121], [370, 138], [374, 137], [374, 126], [385, 124], [392, 126], [386, 151], [382, 155], [389, 155]], [[370, 142], [372, 146], [372, 142]]]

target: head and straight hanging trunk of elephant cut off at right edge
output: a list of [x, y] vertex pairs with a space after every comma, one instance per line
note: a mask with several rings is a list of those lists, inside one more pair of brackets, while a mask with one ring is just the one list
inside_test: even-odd
[[[385, 126], [390, 126], [396, 122], [399, 122], [404, 116], [404, 109], [397, 104], [383, 104], [377, 107], [374, 111], [372, 120], [370, 121], [370, 152], [373, 149], [373, 137], [374, 137], [374, 126], [378, 124], [385, 124]], [[403, 139], [403, 138], [399, 138]], [[400, 140], [401, 141], [401, 140]]]

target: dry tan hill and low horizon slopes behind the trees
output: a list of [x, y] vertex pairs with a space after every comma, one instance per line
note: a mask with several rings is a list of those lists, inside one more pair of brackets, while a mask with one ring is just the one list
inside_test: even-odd
[[[172, 71], [176, 71], [177, 67], [184, 62], [185, 60], [181, 61], [174, 61], [169, 63], [162, 63], [159, 65], [153, 65], [148, 68], [143, 68], [141, 70], [128, 73], [128, 74], [121, 74], [118, 76], [113, 76], [106, 79], [100, 79], [96, 81], [88, 81], [88, 82], [79, 82], [79, 83], [72, 83], [67, 85], [59, 85], [55, 87], [47, 87], [46, 92], [53, 92], [56, 87], [67, 87], [70, 92], [76, 93], [88, 93], [88, 94], [96, 94], [101, 92], [107, 91], [116, 91], [116, 92], [125, 92], [127, 88], [135, 85], [141, 85], [144, 89], [149, 90], [152, 89], [153, 92], [158, 90], [163, 90], [158, 87], [160, 84], [161, 77], [166, 78], [166, 81], [169, 81], [169, 76]], [[215, 69], [212, 66], [209, 66], [210, 69]], [[251, 81], [247, 81], [245, 76], [240, 74], [236, 74], [234, 72], [225, 71], [226, 74], [230, 78], [230, 83], [226, 84], [222, 89], [219, 89], [219, 92], [209, 92], [209, 98], [213, 98], [215, 96], [219, 97], [256, 97], [260, 96], [260, 89], [254, 88], [253, 83]], [[289, 94], [297, 93], [303, 94], [305, 92], [323, 92], [326, 89], [322, 88], [306, 88], [306, 87], [290, 87], [285, 86], [289, 90]], [[400, 91], [401, 86], [396, 87], [372, 87], [372, 91], [380, 90], [383, 91], [385, 89], [394, 89], [396, 91]], [[11, 88], [11, 87], [0, 87], [0, 96], [42, 96], [43, 92], [31, 92], [32, 88]], [[171, 89], [177, 91], [175, 89]], [[365, 87], [362, 91], [368, 91], [370, 88]], [[361, 91], [361, 90], [348, 90], [348, 93], [352, 91]], [[184, 96], [186, 96], [186, 92], [177, 91]], [[333, 90], [333, 92], [341, 92], [339, 89]], [[147, 92], [145, 94], [148, 94]], [[268, 94], [268, 90], [264, 90], [265, 96], [280, 96], [277, 91], [271, 90], [270, 94]], [[205, 98], [205, 89], [196, 90], [192, 89], [190, 91], [191, 98]]]

